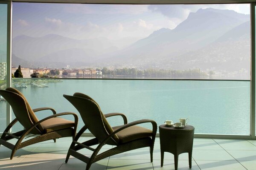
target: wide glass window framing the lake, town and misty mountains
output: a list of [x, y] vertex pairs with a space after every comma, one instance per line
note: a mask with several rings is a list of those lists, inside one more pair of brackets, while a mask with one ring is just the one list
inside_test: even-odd
[[77, 112], [62, 94], [81, 92], [129, 121], [189, 118], [196, 133], [250, 134], [248, 4], [13, 3], [12, 23], [12, 73], [23, 74], [12, 87], [32, 108]]

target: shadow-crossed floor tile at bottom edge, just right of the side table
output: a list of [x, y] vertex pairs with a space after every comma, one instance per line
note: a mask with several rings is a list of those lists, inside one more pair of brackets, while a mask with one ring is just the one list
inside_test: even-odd
[[201, 170], [246, 170], [238, 161], [196, 161]]

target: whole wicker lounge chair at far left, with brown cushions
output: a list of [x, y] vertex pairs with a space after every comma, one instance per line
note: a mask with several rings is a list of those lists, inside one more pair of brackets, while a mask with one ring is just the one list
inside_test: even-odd
[[[0, 145], [8, 147], [12, 150], [11, 159], [13, 158], [16, 150], [28, 146], [30, 144], [35, 144], [42, 141], [47, 141], [53, 139], [56, 142], [57, 138], [72, 136], [73, 139], [76, 134], [76, 127], [78, 123], [78, 116], [76, 113], [64, 112], [56, 114], [56, 111], [52, 108], [37, 108], [31, 109], [26, 98], [20, 91], [15, 88], [6, 88], [6, 90], [0, 90], [0, 95], [3, 96], [7, 102], [12, 106], [12, 110], [16, 118], [6, 127], [1, 138]], [[34, 112], [50, 110], [53, 115], [48, 116], [42, 120], [38, 120]], [[75, 121], [66, 120], [58, 116], [62, 115], [73, 115]], [[16, 123], [24, 127], [24, 130], [20, 130], [16, 133], [9, 133], [10, 128]], [[35, 135], [32, 139], [23, 139], [28, 134]], [[10, 139], [17, 139], [15, 144], [8, 142]]]

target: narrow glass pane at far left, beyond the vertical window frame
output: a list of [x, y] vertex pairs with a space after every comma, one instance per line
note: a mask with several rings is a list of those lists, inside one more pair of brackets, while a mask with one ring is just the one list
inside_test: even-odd
[[[7, 4], [0, 3], [0, 89], [6, 88]], [[0, 132], [6, 128], [6, 101], [0, 96]]]

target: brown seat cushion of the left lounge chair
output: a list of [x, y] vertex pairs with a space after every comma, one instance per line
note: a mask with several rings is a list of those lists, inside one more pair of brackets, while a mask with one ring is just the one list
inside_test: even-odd
[[56, 130], [74, 127], [75, 122], [60, 117], [53, 117], [42, 122], [41, 126], [44, 128], [45, 133], [49, 133]]

